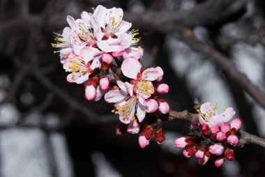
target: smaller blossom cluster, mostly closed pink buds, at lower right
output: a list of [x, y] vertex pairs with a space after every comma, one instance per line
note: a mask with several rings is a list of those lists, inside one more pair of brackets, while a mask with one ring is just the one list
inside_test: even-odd
[[176, 148], [185, 148], [183, 155], [191, 157], [195, 155], [199, 164], [203, 165], [211, 159], [215, 160], [215, 166], [220, 167], [225, 158], [234, 159], [234, 148], [239, 144], [238, 132], [242, 122], [239, 118], [228, 124], [235, 114], [229, 107], [217, 114], [216, 103], [204, 103], [199, 112], [199, 122], [192, 122], [191, 132], [188, 137], [180, 137], [174, 141]]

